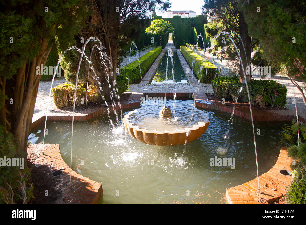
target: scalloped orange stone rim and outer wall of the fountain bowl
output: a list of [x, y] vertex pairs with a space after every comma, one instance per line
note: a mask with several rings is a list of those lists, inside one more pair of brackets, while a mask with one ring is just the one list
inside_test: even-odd
[[[158, 146], [172, 146], [172, 145], [180, 145], [185, 144], [185, 140], [187, 143], [194, 141], [202, 136], [202, 134], [206, 131], [208, 122], [198, 122], [197, 125], [194, 125], [185, 129], [176, 129], [174, 131], [157, 131], [157, 130], [147, 130], [147, 128], [139, 128], [137, 125], [129, 121], [129, 116], [134, 111], [129, 112], [123, 118], [123, 124], [125, 129], [129, 132], [129, 134], [146, 144], [158, 145]], [[189, 133], [186, 136], [186, 133]]]

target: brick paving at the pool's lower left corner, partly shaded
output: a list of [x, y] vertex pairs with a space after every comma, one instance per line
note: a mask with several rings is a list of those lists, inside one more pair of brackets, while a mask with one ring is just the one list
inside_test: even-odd
[[[71, 170], [62, 159], [58, 144], [31, 144], [32, 152], [35, 152], [36, 158], [32, 162], [35, 167], [48, 167], [50, 177], [43, 177], [40, 182], [47, 179], [52, 180], [52, 187], [60, 193], [56, 204], [97, 204], [102, 196], [102, 184], [82, 176]], [[28, 159], [29, 158], [28, 156]], [[33, 160], [33, 159], [32, 159]], [[63, 173], [59, 176], [52, 176], [54, 171], [61, 170]], [[70, 183], [71, 171], [71, 183]], [[36, 181], [37, 182], [37, 181]], [[38, 184], [39, 185], [39, 184]]]

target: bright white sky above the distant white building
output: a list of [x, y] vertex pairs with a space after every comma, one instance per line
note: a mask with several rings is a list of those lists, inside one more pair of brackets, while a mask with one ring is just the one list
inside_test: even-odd
[[[192, 10], [196, 12], [196, 15], [202, 14], [201, 7], [204, 5], [203, 0], [170, 0], [171, 7], [168, 10], [174, 11], [174, 10]], [[167, 17], [166, 12], [159, 12], [156, 11], [157, 16], [162, 16], [163, 18]]]

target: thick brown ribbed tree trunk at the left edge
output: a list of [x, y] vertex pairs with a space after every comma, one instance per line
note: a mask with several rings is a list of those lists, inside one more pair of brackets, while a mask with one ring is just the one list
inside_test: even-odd
[[[24, 62], [16, 75], [5, 81], [2, 78], [2, 92], [8, 99], [2, 103], [1, 118], [5, 132], [13, 133], [17, 153], [27, 156], [28, 136], [31, 131], [32, 118], [38, 92], [40, 74], [36, 74], [36, 67], [45, 65], [52, 45], [47, 51], [49, 39], [41, 37], [41, 49], [32, 62]], [[42, 71], [41, 71], [42, 72]]]

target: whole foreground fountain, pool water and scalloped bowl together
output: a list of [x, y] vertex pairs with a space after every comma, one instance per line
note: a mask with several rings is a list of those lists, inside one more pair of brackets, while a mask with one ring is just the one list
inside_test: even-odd
[[[98, 39], [92, 38], [91, 41], [97, 43], [95, 49], [102, 50], [103, 60], [108, 65], [108, 58], [104, 56], [105, 52]], [[84, 50], [76, 47], [71, 49], [80, 54]], [[168, 54], [171, 57], [169, 50]], [[91, 65], [90, 55], [87, 57], [84, 53], [83, 56]], [[108, 84], [114, 83], [110, 81]], [[165, 85], [167, 88], [168, 85]], [[196, 89], [190, 99], [196, 99], [197, 92]], [[110, 93], [110, 96], [113, 102], [111, 106], [118, 104], [120, 107], [120, 102], [114, 102], [115, 93]], [[151, 104], [154, 100], [149, 100], [132, 112], [120, 110], [125, 128], [120, 121], [120, 112], [117, 114], [116, 111], [108, 111], [107, 115], [97, 116], [90, 121], [76, 122], [74, 130], [69, 121], [45, 122], [45, 126], [37, 128], [29, 136], [29, 141], [59, 143], [62, 157], [65, 162], [70, 161], [70, 168], [92, 180], [103, 182], [104, 193], [100, 203], [111, 204], [220, 203], [218, 201], [222, 199], [221, 194], [224, 194], [229, 180], [232, 183], [243, 183], [254, 178], [258, 174], [254, 168], [258, 168], [258, 165], [259, 172], [269, 170], [274, 165], [274, 159], [279, 154], [277, 149], [282, 143], [294, 144], [291, 125], [285, 122], [258, 123], [256, 128], [268, 130], [273, 126], [274, 129], [269, 136], [258, 137], [261, 147], [255, 149], [256, 158], [258, 151], [260, 159], [257, 165], [257, 159], [252, 154], [254, 145], [249, 144], [255, 142], [254, 133], [246, 132], [252, 127], [253, 121], [235, 119], [233, 112], [228, 121], [229, 116], [222, 112], [207, 110], [204, 113], [195, 107], [194, 101], [177, 99], [175, 92], [173, 96], [174, 99], [164, 99], [165, 102], [155, 106]], [[122, 111], [126, 113], [124, 118]], [[45, 137], [46, 128], [54, 133]], [[130, 135], [126, 135], [126, 130]], [[223, 131], [226, 131], [225, 135]], [[231, 137], [229, 131], [232, 132]], [[209, 134], [209, 138], [202, 135], [204, 132]], [[179, 146], [183, 144], [184, 148]], [[210, 158], [215, 157], [216, 153], [226, 158], [239, 158], [236, 160], [236, 168], [210, 167]], [[80, 165], [80, 159], [84, 159], [84, 165]], [[233, 176], [233, 171], [237, 176]], [[193, 190], [190, 197], [172, 195], [174, 191], [186, 193], [185, 184]], [[120, 198], [114, 198], [114, 190], [120, 191]]]

